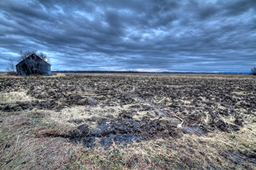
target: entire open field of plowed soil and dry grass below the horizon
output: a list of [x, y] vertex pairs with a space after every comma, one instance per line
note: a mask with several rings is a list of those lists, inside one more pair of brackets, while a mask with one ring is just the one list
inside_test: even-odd
[[256, 79], [0, 75], [0, 169], [256, 169]]

